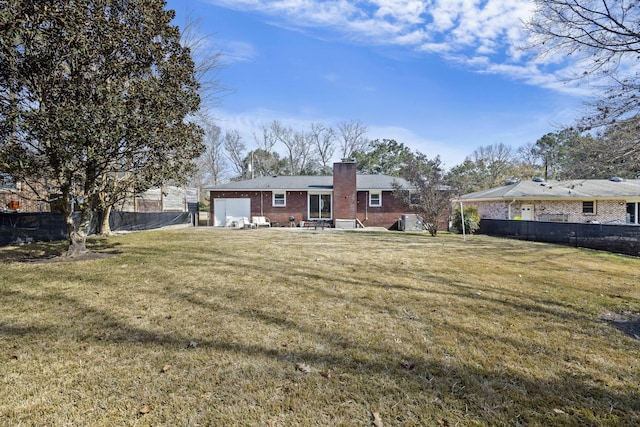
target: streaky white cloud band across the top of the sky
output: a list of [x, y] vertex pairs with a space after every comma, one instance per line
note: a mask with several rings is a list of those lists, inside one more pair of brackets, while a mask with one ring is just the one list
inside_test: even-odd
[[[566, 57], [534, 58], [521, 49], [528, 34], [523, 22], [534, 4], [525, 0], [207, 0], [268, 17], [274, 25], [322, 38], [358, 44], [403, 46], [478, 72], [500, 74], [564, 93], [582, 92], [558, 83], [575, 70]], [[238, 60], [255, 51], [237, 49]], [[332, 78], [328, 76], [328, 78]]]

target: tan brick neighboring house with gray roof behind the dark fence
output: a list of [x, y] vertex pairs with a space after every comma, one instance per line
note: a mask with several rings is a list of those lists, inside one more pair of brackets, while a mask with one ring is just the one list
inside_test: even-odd
[[480, 218], [640, 224], [640, 180], [532, 180], [465, 194]]

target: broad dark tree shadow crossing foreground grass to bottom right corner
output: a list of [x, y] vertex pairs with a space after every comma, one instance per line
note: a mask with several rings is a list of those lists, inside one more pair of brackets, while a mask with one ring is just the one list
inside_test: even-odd
[[[434, 421], [424, 418], [428, 414], [421, 411], [429, 405], [459, 414], [455, 415], [457, 419], [444, 420], [446, 424], [637, 425], [640, 422], [637, 390], [610, 388], [595, 383], [589, 376], [566, 372], [556, 378], [538, 379], [509, 369], [485, 368], [463, 359], [448, 361], [430, 354], [414, 358], [408, 368], [400, 363], [405, 355], [398, 349], [385, 348], [376, 342], [365, 343], [345, 334], [335, 336], [331, 331], [313, 329], [292, 320], [286, 314], [242, 305], [220, 306], [185, 292], [174, 292], [173, 295], [187, 303], [183, 307], [199, 308], [198, 313], [225, 311], [234, 317], [249, 318], [262, 327], [284, 328], [297, 332], [305, 340], [322, 344], [322, 350], [295, 345], [283, 348], [279, 342], [230, 339], [206, 333], [208, 329], [194, 330], [193, 334], [186, 331], [167, 333], [163, 328], [134, 325], [133, 318], [127, 320], [108, 309], [98, 309], [62, 293], [34, 295], [7, 289], [0, 291], [3, 306], [25, 305], [25, 301], [34, 307], [46, 304], [52, 307], [51, 310], [55, 307], [72, 318], [61, 318], [46, 326], [29, 324], [29, 321], [4, 324], [0, 325], [0, 336], [9, 338], [7, 341], [15, 341], [10, 338], [14, 337], [15, 342], [23, 343], [21, 346], [69, 338], [87, 345], [144, 346], [152, 351], [162, 348], [164, 352], [196, 351], [201, 352], [199, 358], [202, 360], [207, 355], [215, 357], [216, 353], [222, 352], [235, 358], [271, 359], [283, 370], [292, 371], [296, 361], [304, 361], [311, 367], [329, 366], [337, 378], [335, 385], [326, 381], [327, 390], [334, 387], [336, 392], [344, 387], [352, 393], [376, 390], [374, 399], [390, 402], [384, 408], [389, 412], [384, 415], [399, 423], [403, 419], [421, 417], [426, 424]], [[167, 314], [171, 310], [167, 307]], [[212, 315], [209, 320], [215, 319]], [[168, 317], [167, 322], [170, 322]], [[191, 342], [198, 345], [191, 348]], [[145, 350], [137, 351], [142, 357]], [[311, 387], [315, 380], [313, 374], [309, 374], [297, 381], [303, 385], [308, 382]], [[413, 406], [405, 407], [402, 402], [410, 402]], [[328, 403], [338, 402], [328, 397]], [[395, 411], [393, 417], [391, 411]], [[236, 421], [242, 423], [242, 420]]]

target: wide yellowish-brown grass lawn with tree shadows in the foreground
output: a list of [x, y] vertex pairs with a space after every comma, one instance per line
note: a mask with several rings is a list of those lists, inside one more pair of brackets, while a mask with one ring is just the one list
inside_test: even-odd
[[639, 425], [640, 259], [154, 231], [0, 249], [0, 425]]

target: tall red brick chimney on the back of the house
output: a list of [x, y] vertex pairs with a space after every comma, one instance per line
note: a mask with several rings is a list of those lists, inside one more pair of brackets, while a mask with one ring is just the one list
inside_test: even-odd
[[355, 219], [358, 212], [356, 162], [343, 159], [333, 164], [333, 218]]

